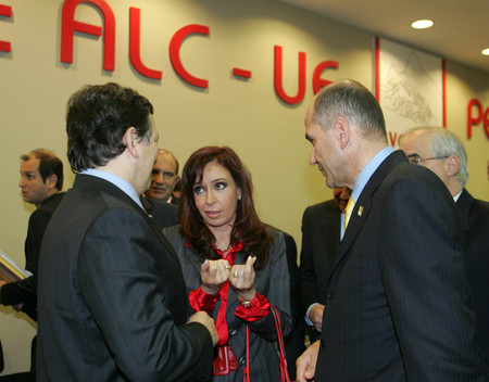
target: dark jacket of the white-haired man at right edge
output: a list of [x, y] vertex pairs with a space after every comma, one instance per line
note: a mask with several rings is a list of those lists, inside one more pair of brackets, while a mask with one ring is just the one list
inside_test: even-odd
[[[489, 371], [489, 203], [463, 190], [456, 206], [465, 232], [465, 255], [477, 318], [477, 342]], [[489, 375], [488, 375], [489, 378]]]

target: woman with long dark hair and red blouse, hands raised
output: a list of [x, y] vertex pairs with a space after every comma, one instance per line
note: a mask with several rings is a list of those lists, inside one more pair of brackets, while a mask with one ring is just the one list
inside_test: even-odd
[[231, 149], [196, 151], [181, 179], [181, 225], [163, 232], [181, 263], [191, 309], [215, 320], [213, 381], [242, 381], [247, 327], [251, 380], [279, 381], [271, 305], [281, 316], [284, 335], [291, 328], [283, 233], [258, 217], [251, 180]]

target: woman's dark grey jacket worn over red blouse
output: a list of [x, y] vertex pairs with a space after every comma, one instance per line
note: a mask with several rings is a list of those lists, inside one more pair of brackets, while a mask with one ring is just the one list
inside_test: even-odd
[[[275, 231], [275, 230], [274, 230]], [[196, 252], [186, 246], [186, 239], [179, 233], [179, 226], [164, 229], [163, 233], [168, 238], [178, 254], [184, 270], [187, 295], [201, 286], [200, 267], [201, 258]], [[275, 244], [269, 255], [268, 264], [263, 269], [255, 272], [254, 286], [256, 292], [266, 296], [280, 313], [284, 322], [284, 335], [287, 335], [291, 328], [290, 317], [290, 285], [287, 269], [287, 256], [281, 232], [275, 231]], [[248, 253], [240, 251], [236, 254], [235, 264], [244, 264]], [[278, 369], [278, 357], [274, 341], [277, 340], [277, 331], [272, 313], [265, 318], [255, 322], [244, 322], [235, 316], [236, 308], [240, 305], [238, 296], [229, 288], [227, 297], [226, 321], [229, 330], [228, 344], [238, 360], [238, 370], [223, 378], [215, 378], [218, 381], [240, 381], [243, 375], [246, 364], [246, 328], [251, 330], [250, 339], [250, 364], [251, 381], [279, 381], [280, 371]], [[190, 305], [189, 305], [190, 306]], [[217, 317], [220, 301], [217, 302], [212, 317]]]

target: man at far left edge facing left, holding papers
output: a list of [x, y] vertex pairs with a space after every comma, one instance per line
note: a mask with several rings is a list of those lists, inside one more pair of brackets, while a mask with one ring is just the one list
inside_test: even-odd
[[[52, 214], [64, 196], [63, 162], [46, 149], [33, 150], [21, 156], [22, 198], [26, 203], [37, 208], [29, 217], [27, 237], [25, 239], [25, 269], [33, 276], [24, 280], [5, 282], [0, 279], [0, 302], [12, 305], [15, 310], [23, 311], [37, 321], [37, 270], [39, 253], [46, 228]], [[34, 336], [30, 348], [30, 370], [16, 374], [0, 377], [0, 381], [35, 381], [36, 380], [36, 346]]]

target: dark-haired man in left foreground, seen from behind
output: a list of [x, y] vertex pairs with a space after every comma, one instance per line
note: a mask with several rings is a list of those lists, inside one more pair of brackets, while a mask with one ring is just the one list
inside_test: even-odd
[[159, 135], [151, 103], [116, 84], [68, 101], [77, 173], [51, 218], [39, 267], [37, 381], [210, 378], [213, 320], [187, 320], [178, 258], [145, 213]]

